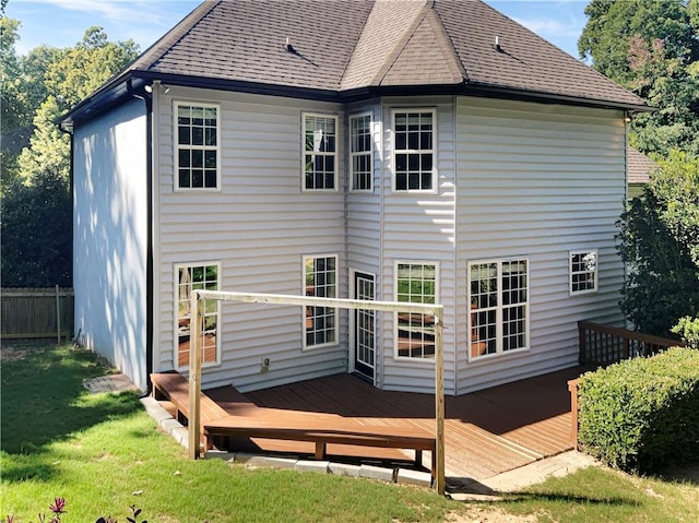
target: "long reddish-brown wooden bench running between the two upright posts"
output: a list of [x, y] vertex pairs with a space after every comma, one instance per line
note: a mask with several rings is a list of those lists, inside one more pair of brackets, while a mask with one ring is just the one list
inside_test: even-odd
[[260, 415], [252, 418], [228, 416], [204, 424], [204, 442], [208, 450], [213, 448], [214, 438], [310, 441], [316, 444], [315, 457], [327, 456], [328, 444], [374, 447], [387, 449], [412, 449], [415, 451], [415, 466], [423, 466], [423, 451], [431, 452], [430, 472], [433, 479], [437, 472], [437, 440], [420, 428], [396, 428], [384, 426], [362, 426], [334, 416], [296, 413], [294, 419], [275, 419], [275, 409], [260, 408]]

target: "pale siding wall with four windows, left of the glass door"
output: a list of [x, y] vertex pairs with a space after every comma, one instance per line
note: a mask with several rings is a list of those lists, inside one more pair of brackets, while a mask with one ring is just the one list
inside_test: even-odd
[[[221, 190], [174, 191], [173, 100], [220, 104]], [[171, 87], [159, 98], [159, 262], [156, 270], [155, 370], [176, 367], [176, 263], [221, 262], [221, 289], [303, 295], [303, 257], [339, 255], [339, 296], [347, 296], [344, 164], [337, 191], [301, 191], [301, 112], [337, 115], [340, 105]], [[204, 368], [204, 388], [242, 391], [347, 369], [346, 311], [340, 343], [303, 350], [300, 307], [224, 304], [221, 365]], [[270, 371], [261, 371], [270, 358]]]

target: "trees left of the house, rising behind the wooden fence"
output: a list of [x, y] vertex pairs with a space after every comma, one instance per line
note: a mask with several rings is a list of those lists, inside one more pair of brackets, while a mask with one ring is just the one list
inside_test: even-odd
[[19, 21], [1, 20], [3, 143], [11, 131], [27, 145], [19, 157], [14, 150], [2, 155], [2, 285], [70, 286], [70, 138], [56, 120], [139, 49], [132, 40], [110, 43], [100, 27], [90, 27], [74, 47], [40, 46], [17, 57]]

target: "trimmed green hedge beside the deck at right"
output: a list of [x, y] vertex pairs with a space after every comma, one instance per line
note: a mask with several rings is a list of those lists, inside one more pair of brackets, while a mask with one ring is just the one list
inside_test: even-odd
[[578, 442], [609, 466], [699, 460], [699, 350], [671, 348], [580, 378]]

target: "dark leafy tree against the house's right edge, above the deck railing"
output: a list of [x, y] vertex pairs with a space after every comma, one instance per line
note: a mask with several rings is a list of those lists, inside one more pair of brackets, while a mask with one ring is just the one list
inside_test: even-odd
[[618, 223], [629, 266], [621, 309], [637, 329], [666, 335], [699, 317], [699, 157], [672, 151]]

